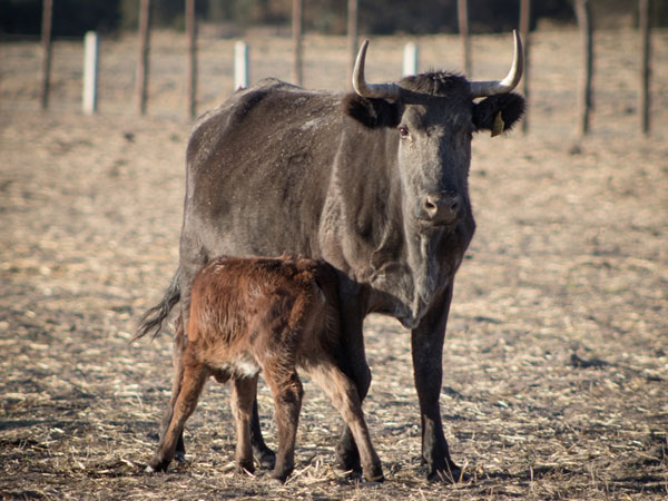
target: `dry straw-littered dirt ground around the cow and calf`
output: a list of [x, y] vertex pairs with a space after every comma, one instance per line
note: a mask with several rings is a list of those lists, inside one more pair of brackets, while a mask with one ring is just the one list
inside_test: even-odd
[[[373, 80], [405, 39], [374, 39]], [[458, 68], [452, 37], [421, 67]], [[478, 233], [455, 285], [441, 397], [470, 480], [430, 483], [410, 336], [365, 325], [365, 401], [386, 481], [337, 471], [341, 420], [306, 381], [286, 484], [234, 472], [228, 387], [207, 385], [187, 463], [143, 473], [169, 395], [170, 341], [129, 344], [176, 268], [184, 193], [185, 40], [154, 37], [149, 115], [134, 115], [136, 41], [101, 47], [100, 112], [79, 114], [79, 43], [0, 46], [0, 495], [3, 499], [666, 499], [668, 497], [668, 32], [655, 36], [654, 130], [638, 132], [639, 40], [597, 35], [595, 134], [573, 136], [579, 40], [538, 32], [531, 132], [474, 139]], [[233, 40], [200, 41], [200, 111], [232, 87]], [[507, 71], [510, 37], [477, 37], [474, 77]], [[305, 85], [345, 88], [345, 40], [307, 37]], [[289, 78], [289, 40], [252, 40], [252, 77]], [[444, 56], [443, 56], [444, 55]], [[181, 57], [183, 56], [183, 57]], [[444, 61], [439, 61], [443, 58]], [[183, 66], [181, 66], [183, 63]], [[262, 424], [275, 448], [272, 399]]]

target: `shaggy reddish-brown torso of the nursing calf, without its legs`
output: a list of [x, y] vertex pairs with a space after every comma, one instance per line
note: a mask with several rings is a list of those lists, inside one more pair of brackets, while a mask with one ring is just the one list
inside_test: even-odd
[[212, 369], [252, 375], [268, 353], [304, 365], [338, 345], [336, 274], [324, 262], [218, 258], [191, 294], [188, 351]]

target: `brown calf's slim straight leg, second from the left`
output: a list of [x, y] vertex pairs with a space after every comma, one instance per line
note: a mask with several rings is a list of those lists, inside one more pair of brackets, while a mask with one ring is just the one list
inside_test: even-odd
[[233, 379], [232, 412], [236, 422], [237, 444], [236, 462], [239, 471], [255, 471], [253, 450], [250, 448], [250, 418], [253, 402], [257, 392], [257, 375], [252, 377]]

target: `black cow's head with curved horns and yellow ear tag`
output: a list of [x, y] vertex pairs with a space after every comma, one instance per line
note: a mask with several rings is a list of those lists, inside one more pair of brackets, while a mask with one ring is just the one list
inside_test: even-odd
[[353, 72], [355, 94], [345, 97], [345, 112], [367, 128], [385, 128], [396, 136], [404, 217], [421, 230], [453, 228], [470, 216], [466, 179], [473, 132], [509, 130], [524, 111], [524, 99], [511, 92], [523, 67], [517, 32], [514, 41], [509, 75], [487, 82], [431, 72], [397, 84], [367, 84], [369, 41], [360, 49]]

